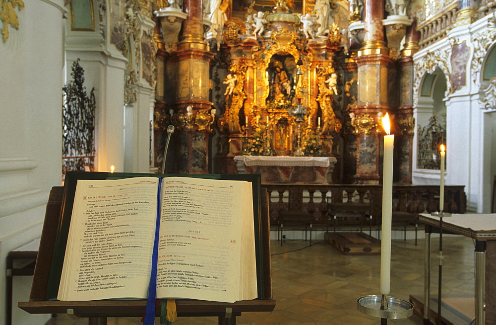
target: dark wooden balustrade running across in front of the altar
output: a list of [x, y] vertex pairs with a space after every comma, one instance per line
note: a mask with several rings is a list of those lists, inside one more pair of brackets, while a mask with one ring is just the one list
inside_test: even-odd
[[[382, 213], [382, 185], [347, 184], [275, 184], [263, 183], [270, 200], [271, 224], [277, 224], [281, 211], [307, 211], [312, 224], [327, 223], [329, 199], [347, 198], [354, 202], [372, 202], [372, 222], [377, 224]], [[438, 185], [393, 184], [393, 211], [430, 213], [439, 207]], [[444, 211], [465, 213], [463, 185], [444, 186]]]

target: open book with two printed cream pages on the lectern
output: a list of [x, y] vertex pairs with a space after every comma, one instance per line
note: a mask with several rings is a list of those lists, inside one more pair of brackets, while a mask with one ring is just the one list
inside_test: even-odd
[[250, 182], [133, 177], [77, 181], [57, 299], [145, 299], [157, 219], [157, 298], [257, 298]]

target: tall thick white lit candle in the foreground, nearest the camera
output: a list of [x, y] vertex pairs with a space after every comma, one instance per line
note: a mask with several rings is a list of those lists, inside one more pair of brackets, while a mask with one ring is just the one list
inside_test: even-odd
[[394, 135], [389, 135], [389, 116], [382, 118], [388, 135], [384, 136], [384, 161], [382, 172], [382, 240], [380, 243], [380, 293], [389, 294], [391, 277], [391, 213], [393, 202], [393, 149]]

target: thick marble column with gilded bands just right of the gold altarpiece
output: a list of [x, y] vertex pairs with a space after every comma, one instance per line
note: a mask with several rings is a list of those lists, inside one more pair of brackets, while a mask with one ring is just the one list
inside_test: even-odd
[[[352, 125], [357, 135], [358, 183], [376, 184], [380, 175], [380, 139], [383, 132], [377, 114], [390, 110], [388, 77], [394, 69], [384, 42], [382, 19], [384, 0], [366, 0], [364, 40], [358, 51], [358, 98], [353, 108]], [[379, 124], [379, 125], [378, 125]]]

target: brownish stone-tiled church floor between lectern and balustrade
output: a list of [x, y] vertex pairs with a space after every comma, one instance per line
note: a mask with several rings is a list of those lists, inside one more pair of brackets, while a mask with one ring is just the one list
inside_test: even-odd
[[[380, 320], [357, 310], [357, 298], [379, 295], [380, 256], [347, 256], [323, 241], [309, 246], [303, 240], [272, 241], [272, 286], [277, 306], [271, 313], [245, 313], [237, 324], [380, 324]], [[433, 236], [432, 248], [438, 239]], [[393, 297], [423, 297], [424, 240], [393, 240], [391, 251]], [[474, 243], [471, 239], [443, 238], [443, 295], [473, 296]], [[437, 296], [436, 254], [432, 255], [432, 297]], [[473, 308], [472, 308], [473, 309]], [[137, 318], [109, 318], [109, 325], [140, 324]], [[422, 324], [413, 316], [389, 320], [390, 324]], [[84, 325], [87, 320], [58, 316], [50, 325]], [[156, 324], [159, 324], [158, 319]], [[179, 318], [174, 324], [217, 324], [216, 318]]]

